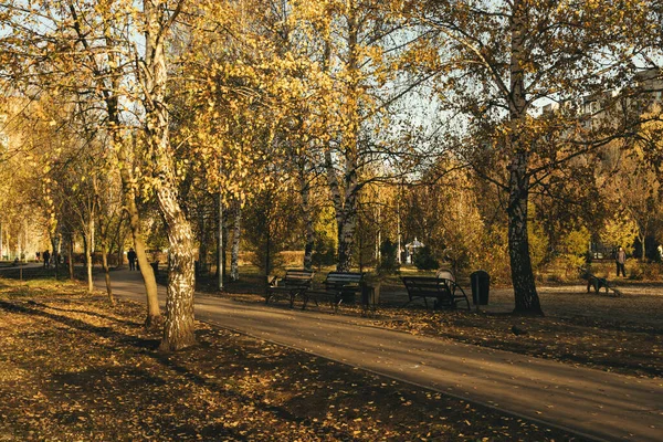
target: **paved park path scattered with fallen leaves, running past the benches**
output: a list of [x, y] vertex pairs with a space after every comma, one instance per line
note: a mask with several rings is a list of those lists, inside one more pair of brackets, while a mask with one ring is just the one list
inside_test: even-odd
[[[114, 292], [144, 301], [139, 272]], [[99, 281], [101, 282], [101, 281]], [[99, 285], [101, 286], [101, 285]], [[160, 287], [161, 301], [165, 294]], [[370, 319], [197, 295], [197, 318], [607, 441], [663, 440], [663, 380], [372, 327]]]

